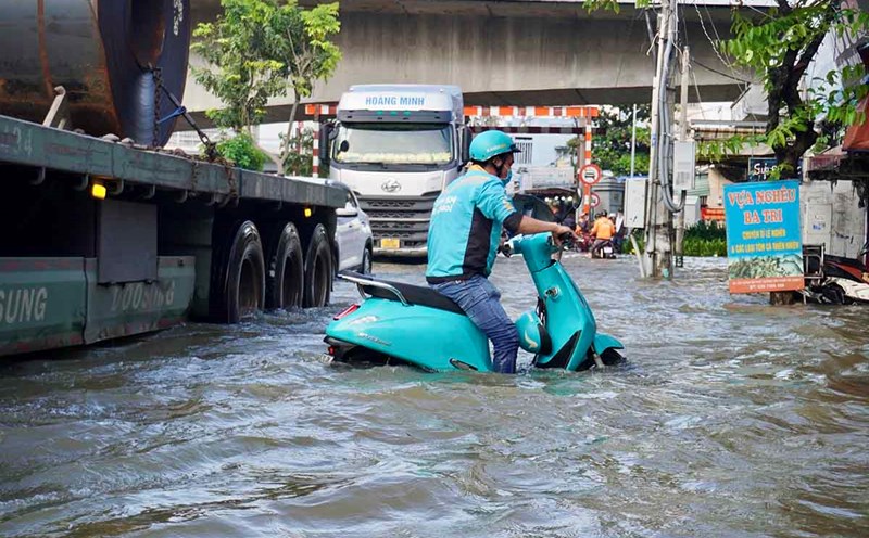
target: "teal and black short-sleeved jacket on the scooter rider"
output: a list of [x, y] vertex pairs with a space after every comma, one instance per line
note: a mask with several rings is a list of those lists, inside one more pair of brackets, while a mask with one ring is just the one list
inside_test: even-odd
[[502, 227], [515, 233], [521, 218], [501, 179], [473, 167], [434, 201], [428, 228], [426, 280], [437, 284], [475, 274], [488, 277]]

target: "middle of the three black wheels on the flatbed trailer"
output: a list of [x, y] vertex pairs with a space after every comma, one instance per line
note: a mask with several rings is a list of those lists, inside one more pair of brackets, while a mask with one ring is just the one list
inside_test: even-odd
[[268, 272], [265, 280], [265, 306], [269, 309], [302, 306], [305, 268], [302, 241], [292, 222], [275, 227], [269, 234]]

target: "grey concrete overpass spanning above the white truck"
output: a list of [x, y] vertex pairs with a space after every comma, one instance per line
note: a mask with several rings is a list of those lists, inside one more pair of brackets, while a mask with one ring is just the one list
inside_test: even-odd
[[[710, 43], [729, 36], [731, 4], [698, 2], [679, 10], [693, 57], [691, 81], [703, 101], [735, 100], [745, 87], [738, 79], [752, 77], [723, 65]], [[192, 0], [194, 23], [214, 20], [219, 11], [219, 0]], [[654, 13], [650, 21], [654, 31]], [[349, 86], [364, 82], [455, 84], [471, 105], [651, 101], [650, 27], [632, 2], [622, 3], [619, 13], [588, 13], [581, 0], [344, 0], [341, 25], [336, 40], [343, 60], [307, 102], [338, 101]], [[696, 93], [691, 91], [692, 101]], [[192, 82], [185, 101], [191, 111], [219, 106]], [[272, 103], [267, 120], [286, 120], [289, 103]]]

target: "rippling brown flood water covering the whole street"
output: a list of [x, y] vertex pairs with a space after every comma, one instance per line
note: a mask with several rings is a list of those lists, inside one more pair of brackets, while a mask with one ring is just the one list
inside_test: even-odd
[[[329, 308], [0, 362], [0, 536], [869, 536], [869, 307], [731, 297], [717, 258], [663, 283], [564, 264], [625, 364], [332, 366], [345, 283]], [[534, 305], [520, 258], [492, 280], [512, 316]]]

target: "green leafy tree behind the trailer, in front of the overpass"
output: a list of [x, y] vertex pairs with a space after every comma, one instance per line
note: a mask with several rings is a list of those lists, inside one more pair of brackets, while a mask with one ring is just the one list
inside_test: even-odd
[[[341, 60], [330, 38], [341, 29], [338, 2], [312, 9], [295, 0], [222, 0], [223, 15], [197, 26], [192, 50], [206, 62], [193, 67], [193, 77], [216, 95], [224, 107], [207, 111], [216, 126], [240, 132], [260, 124], [270, 98], [293, 92], [290, 125], [301, 98], [314, 82], [327, 79]], [[290, 150], [284, 139], [284, 163]]]

